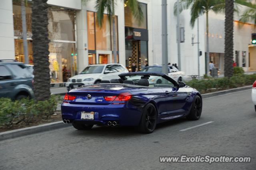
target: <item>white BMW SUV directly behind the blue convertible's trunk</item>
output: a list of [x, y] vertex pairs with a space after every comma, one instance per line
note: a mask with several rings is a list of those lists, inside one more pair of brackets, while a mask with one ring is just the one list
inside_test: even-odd
[[122, 64], [93, 64], [87, 66], [80, 74], [73, 76], [66, 82], [68, 90], [84, 85], [98, 84], [102, 80], [120, 78], [118, 75], [128, 72]]

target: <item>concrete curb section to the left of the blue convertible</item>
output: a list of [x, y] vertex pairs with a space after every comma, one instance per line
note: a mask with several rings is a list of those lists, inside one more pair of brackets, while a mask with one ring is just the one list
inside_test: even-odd
[[25, 127], [22, 129], [15, 129], [12, 131], [1, 132], [0, 141], [6, 140], [6, 139], [12, 139], [12, 138], [20, 137], [24, 135], [30, 135], [33, 133], [39, 133], [43, 131], [50, 131], [50, 130], [58, 129], [62, 127], [68, 127], [68, 125], [64, 124], [63, 121], [56, 121], [52, 123], [46, 123], [43, 125], [37, 125], [32, 127]]

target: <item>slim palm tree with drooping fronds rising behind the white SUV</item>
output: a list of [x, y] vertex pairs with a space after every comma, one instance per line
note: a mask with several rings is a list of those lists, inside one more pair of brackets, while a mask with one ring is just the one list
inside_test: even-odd
[[[140, 4], [137, 0], [124, 0], [124, 3], [130, 8], [133, 16], [138, 20], [140, 24], [143, 20], [143, 13], [140, 7]], [[97, 23], [99, 27], [102, 27], [103, 19], [104, 19], [104, 11], [106, 10], [108, 14], [108, 20], [110, 25], [112, 25], [113, 31], [113, 55], [114, 55], [114, 63], [117, 62], [116, 59], [116, 25], [115, 25], [115, 6], [116, 0], [96, 0], [96, 11], [97, 11]]]

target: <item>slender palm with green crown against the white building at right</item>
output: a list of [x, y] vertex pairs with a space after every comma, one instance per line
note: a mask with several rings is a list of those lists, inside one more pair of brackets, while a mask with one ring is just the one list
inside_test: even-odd
[[[225, 0], [180, 0], [180, 12], [191, 7], [190, 25], [194, 27], [196, 19], [206, 14], [206, 70], [209, 74], [209, 22], [208, 14], [212, 10], [215, 13], [224, 12]], [[177, 2], [174, 4], [174, 14], [177, 13]]]

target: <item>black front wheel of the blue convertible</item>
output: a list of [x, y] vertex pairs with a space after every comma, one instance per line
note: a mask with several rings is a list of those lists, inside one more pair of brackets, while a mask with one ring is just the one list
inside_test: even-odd
[[190, 112], [187, 115], [188, 120], [200, 119], [202, 113], [202, 99], [199, 96], [195, 96]]

